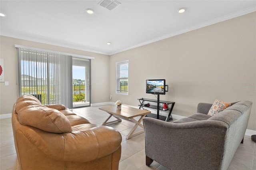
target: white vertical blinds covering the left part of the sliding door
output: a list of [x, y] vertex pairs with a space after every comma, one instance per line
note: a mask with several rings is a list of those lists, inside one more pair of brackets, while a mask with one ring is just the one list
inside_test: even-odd
[[72, 108], [72, 56], [18, 48], [19, 95]]

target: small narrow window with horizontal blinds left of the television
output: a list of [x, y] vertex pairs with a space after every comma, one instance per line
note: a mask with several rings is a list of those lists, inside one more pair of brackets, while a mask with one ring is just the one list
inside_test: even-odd
[[129, 61], [116, 63], [116, 93], [128, 95]]

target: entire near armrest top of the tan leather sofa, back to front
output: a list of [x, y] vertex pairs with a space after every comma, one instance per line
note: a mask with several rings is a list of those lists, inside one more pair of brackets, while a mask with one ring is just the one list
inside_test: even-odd
[[122, 142], [121, 134], [107, 126], [56, 134], [22, 125], [15, 131], [20, 139], [18, 146], [28, 153], [33, 148], [32, 152], [40, 150], [51, 159], [68, 162], [89, 162], [104, 157], [120, 148]]

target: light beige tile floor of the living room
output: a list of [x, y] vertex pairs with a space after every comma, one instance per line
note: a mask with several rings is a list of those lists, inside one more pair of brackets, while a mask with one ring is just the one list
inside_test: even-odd
[[[108, 117], [108, 113], [98, 108], [83, 107], [73, 111], [90, 120], [91, 123], [100, 125]], [[122, 120], [109, 126], [116, 128], [122, 135], [120, 170], [168, 170], [155, 161], [149, 167], [146, 166], [144, 134], [126, 140], [125, 136], [134, 126], [133, 123]], [[137, 129], [141, 130], [140, 127]], [[20, 170], [14, 147], [11, 118], [0, 119], [0, 170]], [[244, 144], [238, 147], [228, 170], [256, 170], [256, 143], [250, 139], [250, 136], [245, 136]]]

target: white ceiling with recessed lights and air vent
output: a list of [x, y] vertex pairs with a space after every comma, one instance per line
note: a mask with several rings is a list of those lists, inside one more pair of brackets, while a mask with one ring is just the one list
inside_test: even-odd
[[99, 2], [0, 0], [0, 35], [112, 55], [256, 11], [256, 0], [118, 0], [114, 10]]

